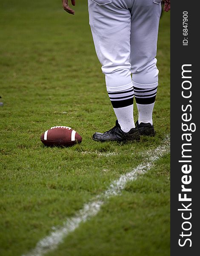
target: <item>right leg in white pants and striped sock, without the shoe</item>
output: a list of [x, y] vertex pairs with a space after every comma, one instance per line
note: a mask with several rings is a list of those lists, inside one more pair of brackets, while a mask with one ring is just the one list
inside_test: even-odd
[[151, 130], [158, 86], [155, 57], [161, 13], [160, 3], [161, 0], [135, 0], [131, 9], [130, 62], [134, 97], [139, 112], [137, 125], [149, 124]]

